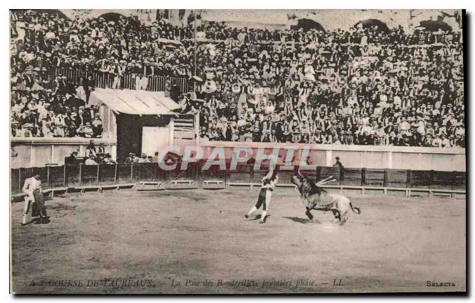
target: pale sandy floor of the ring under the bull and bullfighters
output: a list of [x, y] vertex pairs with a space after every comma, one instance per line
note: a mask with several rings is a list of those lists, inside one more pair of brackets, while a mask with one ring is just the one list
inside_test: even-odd
[[[12, 290], [466, 289], [465, 200], [348, 193], [362, 213], [350, 212], [340, 226], [331, 212], [314, 211], [316, 222], [309, 222], [298, 193], [281, 188], [273, 194], [265, 224], [255, 216], [245, 219], [257, 195], [258, 189], [249, 188], [71, 194], [47, 201], [49, 224], [23, 227], [23, 203], [14, 203]], [[432, 283], [447, 284], [428, 286]]]

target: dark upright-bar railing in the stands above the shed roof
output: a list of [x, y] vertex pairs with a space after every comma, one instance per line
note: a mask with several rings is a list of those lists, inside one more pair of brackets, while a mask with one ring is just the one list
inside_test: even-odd
[[[92, 75], [92, 80], [97, 88], [112, 88], [114, 84], [114, 75], [107, 72], [100, 71], [84, 71], [79, 69], [59, 67], [52, 69], [49, 72], [50, 80], [57, 77], [58, 74], [66, 77], [67, 83], [79, 83], [81, 77], [86, 80], [89, 75]], [[148, 85], [146, 90], [157, 92], [165, 90], [166, 80], [169, 79], [172, 85], [177, 84], [180, 87], [181, 93], [187, 93], [190, 91], [190, 85], [185, 78], [164, 77], [164, 76], [152, 76], [148, 77]], [[132, 74], [126, 74], [121, 77], [119, 88], [122, 89], [137, 89], [136, 77]]]

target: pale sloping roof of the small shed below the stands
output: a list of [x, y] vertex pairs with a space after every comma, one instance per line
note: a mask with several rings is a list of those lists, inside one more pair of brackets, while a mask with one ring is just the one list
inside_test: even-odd
[[116, 90], [98, 88], [91, 93], [89, 103], [105, 104], [114, 111], [130, 115], [166, 115], [181, 106], [165, 97], [164, 92], [144, 90]]

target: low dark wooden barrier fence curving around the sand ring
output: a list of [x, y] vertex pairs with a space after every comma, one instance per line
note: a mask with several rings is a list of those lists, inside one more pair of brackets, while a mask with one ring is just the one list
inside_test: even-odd
[[[202, 170], [201, 163], [188, 163], [186, 170], [178, 164], [174, 170], [163, 170], [158, 163], [133, 163], [116, 165], [78, 165], [48, 166], [11, 170], [11, 193], [19, 194], [26, 178], [39, 174], [42, 187], [73, 187], [87, 185], [111, 185], [140, 181], [192, 180], [196, 187], [203, 186], [207, 180], [219, 180], [227, 185], [259, 184], [265, 170], [254, 170], [253, 165], [238, 165], [235, 170]], [[214, 168], [214, 169], [213, 169]], [[294, 172], [280, 171], [279, 184], [291, 184]], [[447, 190], [465, 191], [466, 173], [447, 171], [423, 171], [402, 169], [340, 169], [335, 167], [317, 167], [316, 170], [302, 171], [313, 180], [333, 176], [336, 181], [328, 185], [336, 187], [363, 186], [368, 188], [406, 188], [408, 190]]]

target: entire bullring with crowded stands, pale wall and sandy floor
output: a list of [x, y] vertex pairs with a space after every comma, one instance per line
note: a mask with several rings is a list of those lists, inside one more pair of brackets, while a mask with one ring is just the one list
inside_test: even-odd
[[466, 291], [464, 23], [10, 10], [10, 291]]

